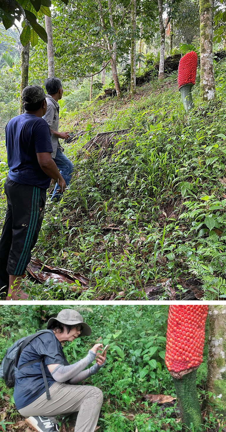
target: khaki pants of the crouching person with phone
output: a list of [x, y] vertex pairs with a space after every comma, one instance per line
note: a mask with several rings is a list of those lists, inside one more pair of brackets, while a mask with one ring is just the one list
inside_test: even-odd
[[48, 417], [78, 411], [75, 432], [94, 431], [103, 403], [103, 393], [99, 388], [56, 382], [49, 391], [50, 400], [46, 398], [46, 393], [43, 393], [27, 407], [19, 410], [19, 413], [24, 417]]

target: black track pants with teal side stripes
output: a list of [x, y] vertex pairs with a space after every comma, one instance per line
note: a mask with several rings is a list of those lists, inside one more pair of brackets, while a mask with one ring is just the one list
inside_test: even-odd
[[19, 184], [7, 177], [6, 219], [0, 238], [0, 288], [9, 275], [22, 275], [31, 259], [44, 217], [46, 189]]

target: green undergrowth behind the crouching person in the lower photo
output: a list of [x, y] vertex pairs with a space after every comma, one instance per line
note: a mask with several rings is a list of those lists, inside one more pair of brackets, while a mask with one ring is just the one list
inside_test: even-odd
[[[14, 341], [37, 329], [46, 328], [48, 319], [67, 307], [4, 306], [0, 311], [0, 361]], [[105, 367], [99, 374], [86, 380], [86, 384], [95, 385], [104, 393], [98, 423], [101, 426], [100, 432], [134, 432], [136, 428], [139, 432], [181, 431], [176, 400], [158, 404], [145, 398], [147, 394], [175, 397], [172, 377], [164, 362], [168, 306], [93, 305], [76, 307], [76, 310], [80, 311], [84, 321], [90, 325], [92, 334], [64, 344], [68, 361], [73, 363], [86, 356], [100, 337], [104, 345], [108, 343], [111, 347]], [[206, 376], [207, 340], [204, 362], [197, 371], [200, 403], [205, 395]], [[0, 406], [3, 413], [6, 408], [7, 421], [13, 423], [13, 426], [5, 425], [6, 431], [18, 430], [22, 418], [14, 406], [13, 389], [6, 388], [3, 381], [0, 381]], [[216, 418], [221, 421], [220, 413], [214, 412], [210, 419], [206, 419], [210, 429], [211, 426], [217, 426]], [[72, 432], [74, 423], [69, 419], [65, 421], [67, 432]], [[19, 430], [24, 431], [22, 426]], [[205, 427], [203, 430], [206, 430]], [[215, 427], [213, 430], [215, 431]]]

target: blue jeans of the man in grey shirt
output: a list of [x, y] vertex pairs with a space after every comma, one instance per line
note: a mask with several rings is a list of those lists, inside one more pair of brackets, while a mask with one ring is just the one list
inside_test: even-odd
[[[73, 168], [74, 165], [73, 163], [67, 158], [67, 156], [65, 156], [64, 153], [62, 153], [60, 151], [60, 149], [57, 149], [57, 153], [56, 156], [54, 158], [54, 162], [57, 165], [58, 170], [60, 171], [60, 174], [62, 175], [62, 177], [65, 180], [66, 185], [69, 185], [70, 179], [72, 177], [72, 173], [73, 173]], [[57, 192], [57, 189], [59, 189], [58, 184], [56, 184], [52, 197], [51, 197], [51, 201], [59, 201], [60, 198], [62, 197], [62, 193]]]

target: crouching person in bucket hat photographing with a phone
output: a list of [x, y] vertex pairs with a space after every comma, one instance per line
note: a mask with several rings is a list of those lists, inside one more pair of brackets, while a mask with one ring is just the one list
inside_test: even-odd
[[[57, 415], [78, 412], [75, 432], [94, 432], [102, 407], [102, 391], [94, 386], [80, 385], [103, 367], [106, 352], [96, 343], [83, 359], [69, 364], [62, 343], [80, 336], [89, 336], [91, 328], [73, 309], [63, 309], [47, 323], [49, 332], [35, 337], [22, 350], [15, 375], [14, 400], [19, 413], [35, 432], [54, 432]], [[43, 359], [45, 379], [41, 372]], [[90, 364], [95, 361], [95, 364]], [[88, 368], [87, 368], [88, 367]], [[48, 393], [45, 390], [45, 381]]]

